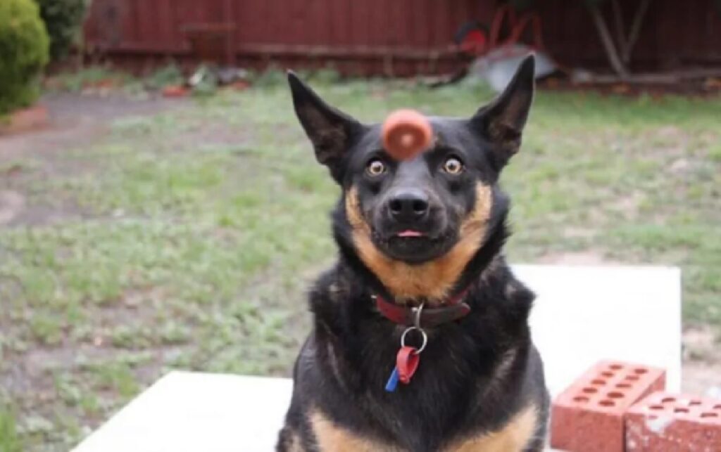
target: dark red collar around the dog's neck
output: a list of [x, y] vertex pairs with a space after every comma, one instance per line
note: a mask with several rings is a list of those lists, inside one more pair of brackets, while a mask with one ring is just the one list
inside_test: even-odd
[[[405, 326], [435, 327], [442, 323], [459, 320], [471, 312], [471, 307], [461, 302], [467, 292], [468, 289], [461, 291], [460, 294], [449, 299], [446, 306], [430, 308], [399, 306], [380, 295], [376, 295], [375, 299], [379, 312], [391, 322]], [[417, 321], [416, 317], [419, 317]]]

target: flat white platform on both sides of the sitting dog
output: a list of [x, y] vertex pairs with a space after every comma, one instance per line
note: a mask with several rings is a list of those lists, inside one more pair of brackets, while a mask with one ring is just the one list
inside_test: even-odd
[[[604, 358], [663, 367], [668, 389], [678, 391], [678, 268], [514, 266], [514, 271], [538, 295], [531, 329], [552, 394]], [[287, 379], [172, 372], [74, 451], [273, 451], [291, 388]]]

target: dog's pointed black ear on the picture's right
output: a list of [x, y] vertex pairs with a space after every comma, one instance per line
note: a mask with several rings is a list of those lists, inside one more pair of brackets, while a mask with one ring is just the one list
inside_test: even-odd
[[492, 143], [492, 158], [499, 169], [521, 147], [521, 133], [534, 99], [535, 73], [534, 55], [528, 55], [503, 93], [471, 119], [473, 127]]

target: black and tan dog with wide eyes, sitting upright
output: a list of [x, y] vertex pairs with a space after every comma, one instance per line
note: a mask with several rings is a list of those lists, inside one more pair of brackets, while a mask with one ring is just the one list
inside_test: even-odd
[[[342, 196], [340, 257], [309, 295], [314, 328], [278, 451], [541, 450], [548, 397], [528, 330], [534, 295], [504, 261], [509, 202], [497, 185], [521, 145], [533, 58], [471, 118], [430, 118], [433, 147], [402, 162], [384, 152], [380, 125], [288, 79]], [[421, 362], [394, 389], [406, 330]]]

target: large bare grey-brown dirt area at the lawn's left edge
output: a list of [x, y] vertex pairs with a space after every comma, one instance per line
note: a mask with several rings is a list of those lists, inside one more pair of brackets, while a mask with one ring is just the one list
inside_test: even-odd
[[[62, 190], [53, 191], [53, 205], [37, 204], [28, 190], [34, 181], [77, 171], [78, 159], [63, 158], [63, 151], [101, 140], [113, 119], [155, 114], [187, 104], [187, 100], [133, 99], [128, 96], [53, 94], [41, 103], [50, 124], [42, 130], [0, 137], [0, 225], [49, 225], [84, 217], [84, 212]], [[70, 163], [68, 163], [70, 162]]]

